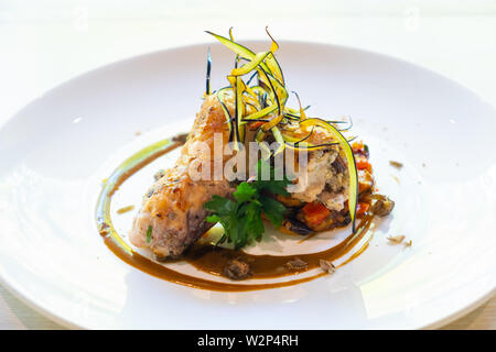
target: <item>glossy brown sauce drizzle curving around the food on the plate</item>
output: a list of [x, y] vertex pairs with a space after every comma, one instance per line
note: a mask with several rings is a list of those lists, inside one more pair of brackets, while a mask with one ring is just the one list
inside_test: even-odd
[[[108, 249], [116, 254], [123, 262], [129, 265], [153, 275], [155, 277], [165, 279], [168, 282], [181, 284], [188, 287], [217, 290], [217, 292], [247, 292], [257, 289], [268, 289], [277, 287], [292, 286], [305, 282], [310, 282], [323, 275], [325, 272], [319, 272], [308, 277], [290, 279], [279, 283], [262, 283], [262, 284], [241, 284], [237, 282], [220, 283], [216, 280], [209, 280], [196, 276], [186, 275], [174, 270], [169, 268], [166, 265], [157, 263], [132, 250], [116, 232], [110, 219], [110, 201], [111, 197], [116, 193], [122, 183], [125, 183], [130, 176], [137, 173], [139, 169], [150, 164], [158, 157], [164, 155], [168, 152], [181, 146], [184, 143], [181, 139], [172, 139], [158, 142], [129, 157], [108, 178], [104, 185], [104, 189], [99, 196], [96, 220], [100, 234], [104, 237], [105, 244]], [[374, 216], [369, 215], [360, 220], [357, 227], [356, 233], [352, 233], [339, 244], [321, 252], [303, 253], [295, 255], [252, 255], [242, 251], [235, 251], [225, 248], [215, 246], [213, 244], [196, 243], [194, 244], [182, 258], [198, 271], [215, 275], [223, 276], [225, 265], [229, 260], [242, 258], [250, 265], [250, 277], [255, 279], [277, 278], [294, 274], [301, 274], [308, 271], [312, 271], [320, 267], [320, 260], [333, 262], [345, 254], [347, 254], [354, 246], [356, 246], [360, 240], [365, 237], [370, 228]], [[356, 258], [367, 248], [371, 235], [366, 239], [365, 243], [354, 254], [352, 254], [344, 263], [337, 267], [345, 265], [352, 260]], [[304, 267], [291, 267], [288, 262], [300, 260], [306, 263]], [[169, 263], [174, 261], [169, 261]]]

